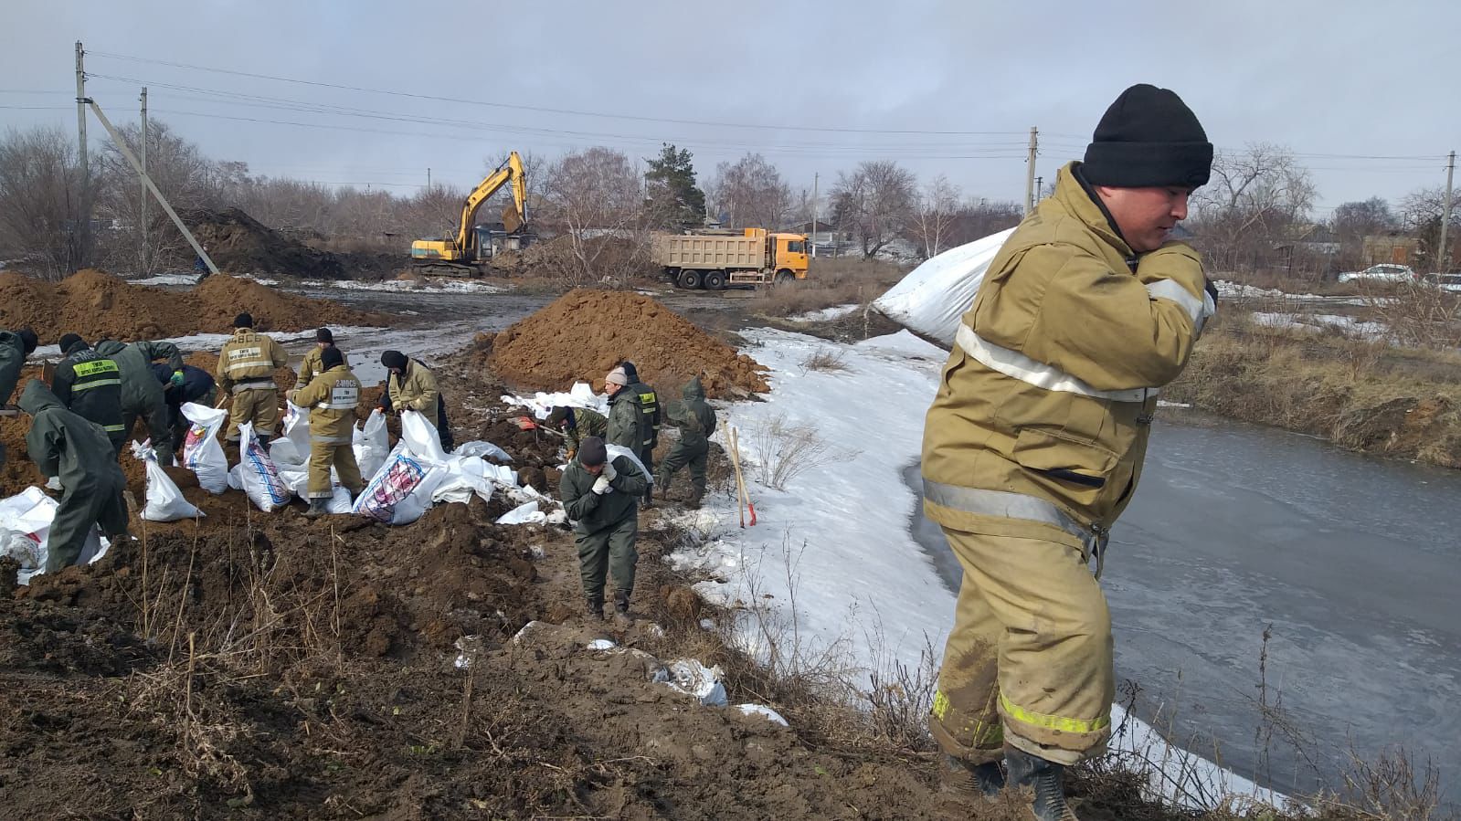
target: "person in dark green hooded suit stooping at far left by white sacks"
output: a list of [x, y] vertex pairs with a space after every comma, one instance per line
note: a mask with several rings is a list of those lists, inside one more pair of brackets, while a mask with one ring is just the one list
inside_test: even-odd
[[99, 524], [108, 539], [127, 535], [127, 486], [107, 431], [66, 409], [41, 380], [31, 380], [20, 394], [20, 410], [32, 416], [25, 447], [48, 479], [61, 482], [64, 495], [51, 523], [45, 573], [76, 564]]

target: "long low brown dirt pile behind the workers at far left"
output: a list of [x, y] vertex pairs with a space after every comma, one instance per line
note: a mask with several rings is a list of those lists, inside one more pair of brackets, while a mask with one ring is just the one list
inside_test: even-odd
[[321, 324], [380, 326], [390, 317], [329, 299], [285, 294], [251, 279], [209, 276], [191, 291], [131, 285], [99, 270], [80, 270], [51, 285], [23, 273], [0, 273], [0, 327], [29, 326], [42, 343], [63, 333], [91, 342], [225, 333], [241, 311], [259, 330], [305, 330]]

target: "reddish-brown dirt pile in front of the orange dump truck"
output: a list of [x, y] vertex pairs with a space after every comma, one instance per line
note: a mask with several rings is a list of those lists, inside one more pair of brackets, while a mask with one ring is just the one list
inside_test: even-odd
[[619, 361], [631, 359], [647, 384], [700, 374], [710, 397], [770, 390], [755, 359], [638, 294], [570, 291], [489, 342], [487, 365], [519, 387], [599, 386]]

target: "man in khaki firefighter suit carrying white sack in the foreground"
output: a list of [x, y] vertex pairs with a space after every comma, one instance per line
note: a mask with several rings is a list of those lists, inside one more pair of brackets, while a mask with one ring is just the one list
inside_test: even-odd
[[991, 263], [923, 428], [923, 510], [964, 571], [929, 719], [945, 784], [993, 795], [1004, 760], [1040, 821], [1075, 818], [1062, 771], [1110, 735], [1106, 533], [1214, 311], [1170, 235], [1211, 159], [1176, 93], [1126, 89]]

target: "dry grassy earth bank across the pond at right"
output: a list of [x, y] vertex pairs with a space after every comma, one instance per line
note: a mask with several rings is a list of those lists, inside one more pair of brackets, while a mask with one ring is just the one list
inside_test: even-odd
[[1449, 354], [1227, 321], [1204, 335], [1163, 397], [1362, 453], [1461, 467], [1461, 358]]

